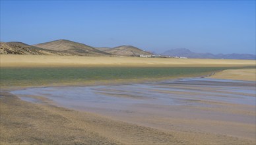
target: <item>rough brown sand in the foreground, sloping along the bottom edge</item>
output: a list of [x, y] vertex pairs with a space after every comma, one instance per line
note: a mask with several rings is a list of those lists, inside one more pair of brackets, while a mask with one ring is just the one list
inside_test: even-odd
[[[1, 144], [255, 144], [224, 134], [175, 126], [166, 131], [50, 103], [28, 103], [5, 92], [0, 100]], [[189, 123], [182, 118], [173, 121], [181, 126]], [[196, 124], [201, 123], [205, 125], [200, 120]]]

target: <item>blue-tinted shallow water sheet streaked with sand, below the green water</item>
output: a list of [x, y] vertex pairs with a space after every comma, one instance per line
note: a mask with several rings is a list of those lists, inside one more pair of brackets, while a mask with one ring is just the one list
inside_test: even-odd
[[116, 105], [186, 105], [189, 101], [199, 100], [255, 105], [255, 91], [255, 82], [185, 78], [142, 84], [27, 88], [12, 93], [22, 96], [25, 101], [33, 101], [28, 96], [42, 96], [67, 107], [112, 106], [114, 109]]

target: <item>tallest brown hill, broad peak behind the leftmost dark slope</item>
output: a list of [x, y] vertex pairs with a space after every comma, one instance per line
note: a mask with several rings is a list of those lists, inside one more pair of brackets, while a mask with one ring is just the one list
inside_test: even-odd
[[94, 47], [69, 40], [56, 40], [53, 42], [37, 44], [35, 46], [54, 51], [61, 51], [63, 53], [69, 53], [70, 55], [110, 55], [110, 53], [100, 51]]

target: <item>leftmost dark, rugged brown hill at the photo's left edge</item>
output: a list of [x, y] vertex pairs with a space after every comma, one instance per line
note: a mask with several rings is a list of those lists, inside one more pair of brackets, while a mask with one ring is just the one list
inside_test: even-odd
[[50, 51], [22, 42], [1, 42], [0, 54], [20, 54], [20, 55], [65, 55], [58, 51]]

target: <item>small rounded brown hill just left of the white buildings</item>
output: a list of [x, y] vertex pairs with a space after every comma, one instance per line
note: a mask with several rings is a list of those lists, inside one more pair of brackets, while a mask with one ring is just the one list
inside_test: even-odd
[[105, 50], [107, 53], [112, 55], [123, 55], [123, 56], [139, 56], [139, 55], [151, 55], [147, 51], [143, 51], [137, 47], [131, 45], [121, 45], [112, 49]]

